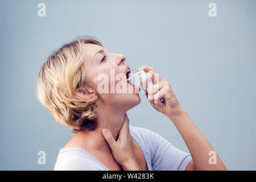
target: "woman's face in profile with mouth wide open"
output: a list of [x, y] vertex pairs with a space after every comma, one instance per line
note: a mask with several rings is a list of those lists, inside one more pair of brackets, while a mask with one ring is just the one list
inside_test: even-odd
[[125, 64], [125, 55], [108, 52], [96, 44], [83, 46], [85, 79], [96, 90], [101, 101], [124, 110], [138, 105], [141, 102], [139, 88], [126, 81], [130, 68]]

